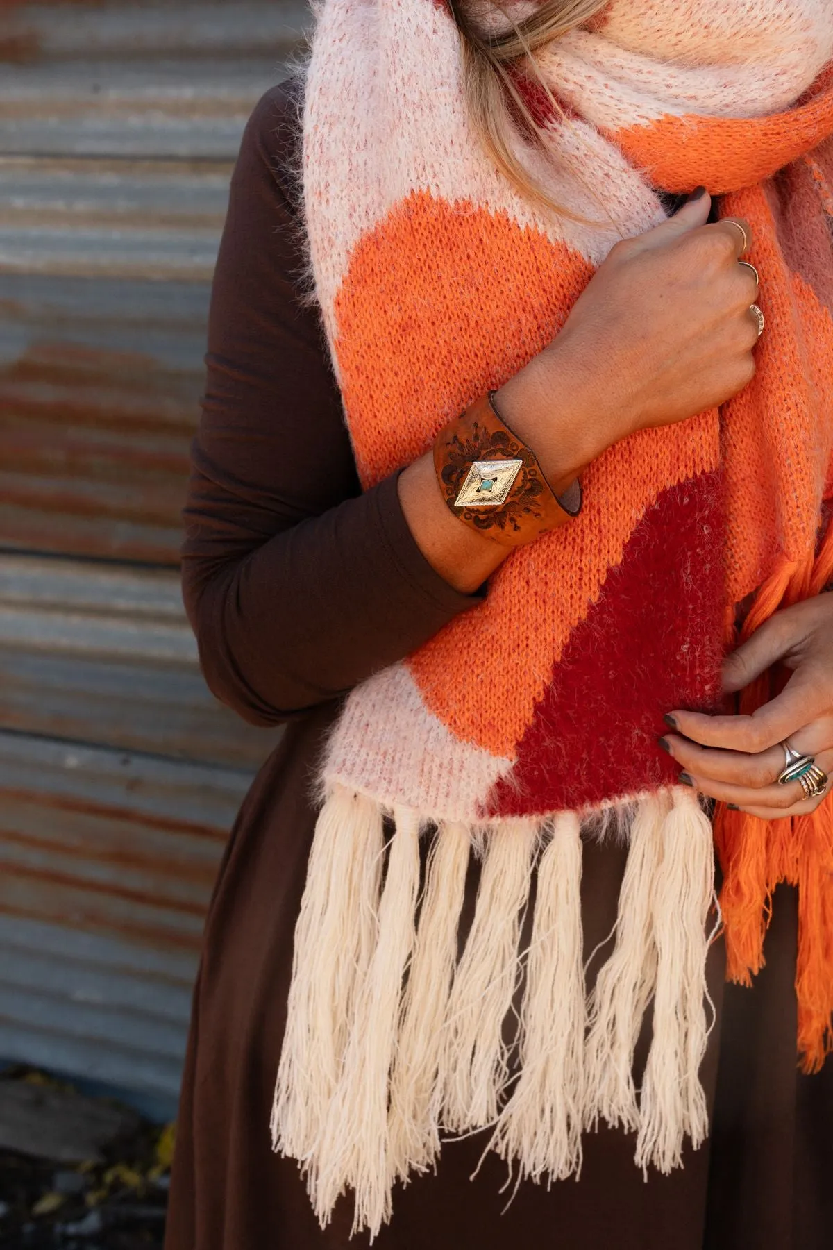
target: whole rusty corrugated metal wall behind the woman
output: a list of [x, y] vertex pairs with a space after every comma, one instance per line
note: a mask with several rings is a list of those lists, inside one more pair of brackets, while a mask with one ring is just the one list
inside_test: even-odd
[[275, 736], [176, 571], [209, 285], [300, 0], [0, 0], [0, 1059], [176, 1095], [227, 830]]

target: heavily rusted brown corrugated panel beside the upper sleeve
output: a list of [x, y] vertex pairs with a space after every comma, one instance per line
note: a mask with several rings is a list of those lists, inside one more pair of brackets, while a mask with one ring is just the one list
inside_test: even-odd
[[207, 284], [0, 274], [0, 545], [176, 564]]

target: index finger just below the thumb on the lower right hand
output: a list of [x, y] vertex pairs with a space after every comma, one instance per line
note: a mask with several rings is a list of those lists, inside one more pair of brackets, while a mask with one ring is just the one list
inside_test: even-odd
[[729, 751], [759, 755], [826, 715], [828, 705], [829, 695], [817, 675], [801, 669], [793, 672], [779, 695], [751, 716], [707, 716], [698, 711], [673, 711], [668, 715], [667, 724], [701, 746], [719, 746]]

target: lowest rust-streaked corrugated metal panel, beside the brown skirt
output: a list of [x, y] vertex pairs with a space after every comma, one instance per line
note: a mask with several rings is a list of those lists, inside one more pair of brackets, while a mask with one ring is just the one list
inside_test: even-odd
[[176, 1091], [190, 984], [249, 785], [0, 732], [0, 1055]]

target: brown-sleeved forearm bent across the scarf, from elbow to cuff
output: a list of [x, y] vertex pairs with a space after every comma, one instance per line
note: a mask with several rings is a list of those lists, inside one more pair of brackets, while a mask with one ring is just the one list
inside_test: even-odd
[[345, 694], [477, 602], [420, 554], [395, 479], [216, 560], [199, 492], [197, 478], [186, 510], [199, 539], [185, 549], [186, 608], [210, 688], [255, 724]]

